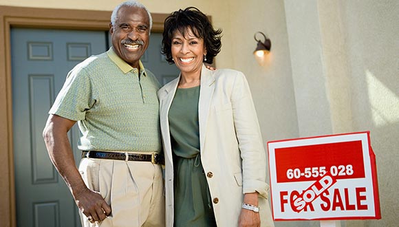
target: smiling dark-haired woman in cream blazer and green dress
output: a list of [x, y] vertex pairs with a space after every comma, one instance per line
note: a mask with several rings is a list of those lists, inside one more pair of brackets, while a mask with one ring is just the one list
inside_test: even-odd
[[162, 53], [180, 69], [158, 91], [166, 226], [273, 226], [266, 155], [246, 78], [204, 66], [219, 53], [221, 33], [193, 7], [164, 23]]

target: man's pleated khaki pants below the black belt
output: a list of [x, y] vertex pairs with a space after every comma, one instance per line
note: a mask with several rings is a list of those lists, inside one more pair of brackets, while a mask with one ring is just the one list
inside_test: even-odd
[[83, 158], [79, 171], [86, 185], [100, 192], [112, 209], [111, 215], [97, 224], [80, 212], [83, 227], [165, 226], [159, 164]]

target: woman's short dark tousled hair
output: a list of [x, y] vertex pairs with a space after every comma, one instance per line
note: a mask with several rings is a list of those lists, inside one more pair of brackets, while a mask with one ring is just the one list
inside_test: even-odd
[[219, 54], [222, 47], [222, 42], [220, 41], [222, 30], [214, 30], [208, 17], [195, 7], [172, 12], [165, 19], [161, 52], [166, 56], [166, 61], [170, 64], [174, 63], [171, 51], [173, 34], [176, 31], [179, 31], [180, 34], [186, 34], [188, 29], [197, 38], [204, 39], [206, 48], [206, 61], [204, 62], [212, 64], [213, 58]]

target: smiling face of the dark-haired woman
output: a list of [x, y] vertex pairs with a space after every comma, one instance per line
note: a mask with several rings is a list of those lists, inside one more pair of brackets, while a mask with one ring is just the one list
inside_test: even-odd
[[190, 28], [186, 31], [183, 35], [177, 30], [171, 43], [173, 61], [183, 75], [201, 72], [206, 54], [204, 39], [197, 38]]

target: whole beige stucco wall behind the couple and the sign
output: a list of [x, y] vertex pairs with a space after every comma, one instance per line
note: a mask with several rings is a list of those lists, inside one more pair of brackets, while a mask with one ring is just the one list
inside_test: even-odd
[[[3, 6], [112, 10], [120, 1], [0, 0]], [[382, 220], [343, 226], [395, 226], [399, 213], [399, 2], [154, 1], [151, 12], [196, 6], [224, 30], [218, 68], [244, 72], [264, 141], [371, 131]], [[252, 55], [255, 32], [270, 37], [263, 66]], [[319, 226], [279, 221], [276, 226]]]

